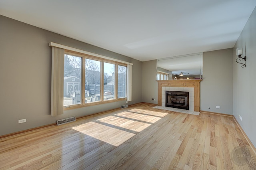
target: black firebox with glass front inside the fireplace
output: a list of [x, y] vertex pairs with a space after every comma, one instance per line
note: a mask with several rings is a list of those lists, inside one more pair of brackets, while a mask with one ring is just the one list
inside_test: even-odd
[[166, 107], [174, 107], [178, 109], [189, 109], [189, 92], [186, 91], [166, 91]]

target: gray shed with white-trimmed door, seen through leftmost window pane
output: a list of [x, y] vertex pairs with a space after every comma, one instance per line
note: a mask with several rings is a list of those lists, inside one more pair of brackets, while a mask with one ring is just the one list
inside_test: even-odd
[[75, 76], [64, 77], [64, 97], [70, 97], [72, 91], [80, 91], [81, 79]]

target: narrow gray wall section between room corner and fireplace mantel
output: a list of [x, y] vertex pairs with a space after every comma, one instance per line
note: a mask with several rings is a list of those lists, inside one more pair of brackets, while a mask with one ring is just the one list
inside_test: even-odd
[[[142, 101], [158, 103], [158, 82], [156, 81], [156, 60], [142, 63]], [[152, 101], [152, 98], [155, 101]]]

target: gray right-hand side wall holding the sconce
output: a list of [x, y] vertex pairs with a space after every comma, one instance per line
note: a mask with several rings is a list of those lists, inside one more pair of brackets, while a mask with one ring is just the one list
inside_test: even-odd
[[[234, 116], [256, 146], [256, 8], [247, 21], [240, 37], [234, 46], [233, 79], [234, 79]], [[246, 46], [246, 67], [236, 63], [236, 48]], [[243, 50], [243, 51], [244, 51]], [[242, 55], [244, 57], [244, 53]], [[242, 117], [242, 121], [238, 115]]]

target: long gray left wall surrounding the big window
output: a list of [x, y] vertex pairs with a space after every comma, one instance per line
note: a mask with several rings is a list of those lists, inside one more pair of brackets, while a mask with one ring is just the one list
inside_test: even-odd
[[[0, 135], [82, 117], [126, 104], [125, 101], [65, 111], [50, 116], [51, 55], [49, 42], [133, 63], [132, 101], [142, 102], [142, 62], [118, 53], [0, 16]], [[86, 34], [86, 33], [85, 33]], [[19, 119], [27, 119], [18, 124]]]

